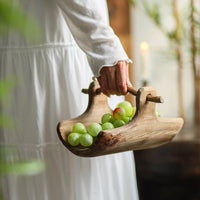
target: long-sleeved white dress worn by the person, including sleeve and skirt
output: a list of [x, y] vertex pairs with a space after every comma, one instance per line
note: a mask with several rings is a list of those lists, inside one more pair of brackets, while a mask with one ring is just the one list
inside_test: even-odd
[[86, 109], [88, 97], [80, 91], [93, 74], [97, 76], [102, 66], [128, 60], [108, 26], [106, 2], [20, 2], [40, 24], [43, 38], [31, 43], [10, 30], [0, 39], [0, 78], [18, 80], [9, 101], [0, 107], [15, 120], [13, 130], [1, 130], [1, 145], [15, 147], [10, 162], [39, 159], [46, 170], [4, 176], [4, 199], [137, 200], [132, 152], [80, 158], [67, 151], [56, 133], [60, 120]]

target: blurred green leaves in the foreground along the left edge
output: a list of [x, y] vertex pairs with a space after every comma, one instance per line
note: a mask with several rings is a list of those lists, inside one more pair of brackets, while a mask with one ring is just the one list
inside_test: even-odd
[[[8, 28], [12, 27], [14, 31], [21, 33], [27, 40], [39, 39], [40, 27], [20, 5], [0, 0], [0, 16], [0, 37], [4, 37]], [[0, 200], [8, 200], [3, 196], [3, 191], [4, 194], [12, 196], [8, 185], [18, 185], [21, 181], [28, 184], [31, 176], [40, 176], [46, 167], [42, 160], [33, 155], [30, 146], [27, 146], [25, 156], [18, 156], [22, 153], [18, 146], [8, 146], [2, 142], [4, 141], [3, 130], [13, 131], [15, 127], [13, 117], [2, 112], [2, 108], [8, 108], [13, 103], [11, 97], [16, 85], [15, 76], [0, 79]]]

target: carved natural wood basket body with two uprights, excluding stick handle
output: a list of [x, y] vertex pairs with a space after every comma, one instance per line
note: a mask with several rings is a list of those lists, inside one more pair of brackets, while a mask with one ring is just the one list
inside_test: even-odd
[[57, 127], [58, 136], [72, 153], [83, 157], [153, 148], [170, 142], [182, 128], [183, 120], [157, 117], [155, 103], [146, 101], [148, 95], [156, 96], [155, 88], [143, 87], [138, 90], [137, 112], [128, 124], [101, 131], [89, 148], [72, 147], [68, 144], [67, 137], [75, 123], [82, 122], [87, 128], [93, 122], [101, 122], [102, 115], [111, 112], [107, 97], [100, 93], [98, 82], [92, 82], [89, 87], [88, 108], [77, 118], [61, 121]]

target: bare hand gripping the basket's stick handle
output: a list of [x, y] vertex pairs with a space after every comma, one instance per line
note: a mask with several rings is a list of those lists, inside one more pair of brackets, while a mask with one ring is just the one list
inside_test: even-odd
[[103, 67], [100, 76], [97, 78], [101, 91], [110, 97], [111, 94], [125, 95], [127, 86], [131, 85], [129, 80], [128, 62], [118, 61], [111, 67]]

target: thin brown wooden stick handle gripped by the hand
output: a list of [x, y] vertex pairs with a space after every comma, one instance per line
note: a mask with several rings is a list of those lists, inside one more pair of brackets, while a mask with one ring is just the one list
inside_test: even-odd
[[[136, 96], [137, 95], [137, 90], [135, 88], [133, 88], [132, 86], [127, 86], [127, 90], [129, 93], [131, 93], [132, 95]], [[89, 90], [88, 89], [82, 89], [82, 92], [84, 94], [89, 94]], [[96, 94], [99, 94], [101, 92], [101, 89], [97, 89], [96, 90]], [[155, 102], [155, 103], [164, 103], [164, 99], [161, 96], [152, 96], [152, 95], [147, 95], [147, 101], [151, 101], [151, 102]]]

